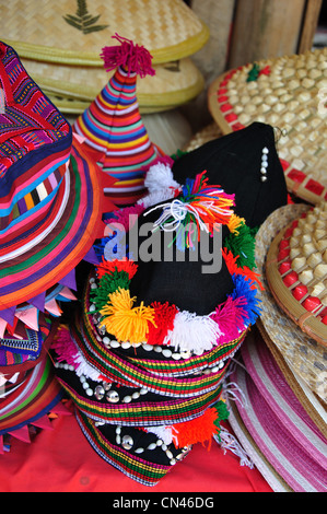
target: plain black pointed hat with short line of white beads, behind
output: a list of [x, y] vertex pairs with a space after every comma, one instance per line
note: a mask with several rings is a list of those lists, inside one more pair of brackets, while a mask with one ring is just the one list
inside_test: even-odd
[[[267, 147], [267, 180], [261, 182], [262, 149]], [[259, 226], [266, 218], [288, 202], [284, 173], [270, 125], [254, 122], [245, 129], [205, 143], [177, 159], [173, 165], [175, 180], [184, 184], [207, 170], [210, 184], [235, 194], [235, 212], [250, 227]]]

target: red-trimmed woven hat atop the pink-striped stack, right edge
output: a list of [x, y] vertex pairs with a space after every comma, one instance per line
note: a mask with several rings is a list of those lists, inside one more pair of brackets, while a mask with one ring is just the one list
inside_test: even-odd
[[272, 241], [266, 262], [281, 308], [327, 347], [327, 203], [288, 224]]

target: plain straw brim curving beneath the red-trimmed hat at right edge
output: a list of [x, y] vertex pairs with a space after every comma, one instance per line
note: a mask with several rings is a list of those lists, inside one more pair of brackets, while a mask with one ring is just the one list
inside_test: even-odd
[[265, 288], [259, 292], [260, 319], [290, 369], [300, 375], [308, 388], [326, 402], [326, 349], [305, 335], [278, 306], [270, 292], [265, 269], [268, 248], [277, 233], [308, 209], [308, 206], [300, 203], [277, 209], [262, 223], [256, 235], [256, 264]]

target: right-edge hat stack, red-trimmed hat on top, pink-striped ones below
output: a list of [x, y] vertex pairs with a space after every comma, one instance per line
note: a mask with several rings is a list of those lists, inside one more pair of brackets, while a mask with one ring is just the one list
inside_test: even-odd
[[[241, 351], [245, 367], [237, 366], [231, 377], [238, 393], [230, 421], [276, 491], [327, 488], [324, 307], [320, 303], [316, 309], [306, 308], [325, 297], [324, 291], [316, 294], [317, 265], [307, 264], [310, 256], [319, 254], [319, 242], [324, 242], [324, 231], [316, 232], [313, 223], [315, 214], [324, 221], [324, 207], [287, 206], [277, 209], [259, 229], [256, 262], [264, 284], [259, 291], [262, 307], [257, 320], [259, 331], [246, 339]], [[296, 234], [302, 240], [303, 230], [312, 236], [310, 255], [305, 255], [308, 242], [293, 244]], [[303, 257], [300, 271], [297, 259]], [[320, 264], [323, 260], [322, 255]], [[273, 271], [276, 277], [280, 273], [278, 284]], [[312, 272], [313, 280], [304, 284], [307, 272]], [[297, 279], [290, 284], [295, 274]]]

